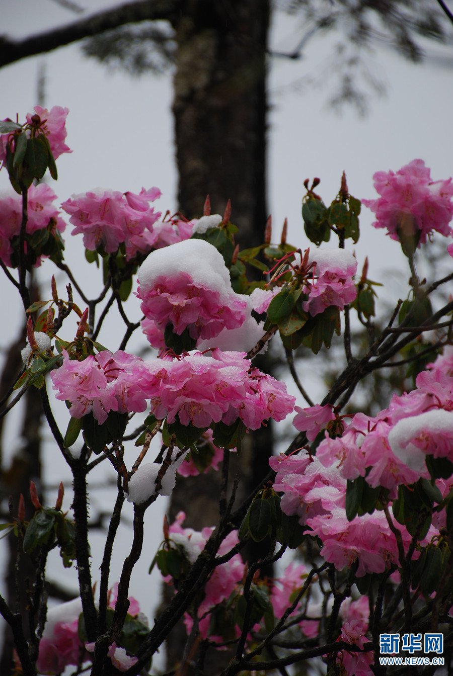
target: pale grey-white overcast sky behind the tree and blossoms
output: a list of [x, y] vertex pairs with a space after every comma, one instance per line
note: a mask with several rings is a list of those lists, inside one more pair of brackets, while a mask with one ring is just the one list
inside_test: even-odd
[[[433, 7], [438, 6], [435, 0], [428, 1]], [[113, 3], [85, 0], [84, 4], [91, 11]], [[1, 0], [0, 3], [0, 33], [11, 36], [45, 30], [75, 18], [51, 0]], [[277, 51], [291, 49], [297, 44], [300, 30], [297, 20], [281, 17], [272, 31], [273, 47]], [[329, 40], [332, 45], [335, 38]], [[358, 118], [353, 110], [345, 110], [342, 116], [337, 116], [325, 106], [332, 82], [327, 82], [324, 88], [308, 88], [304, 94], [297, 93], [293, 87], [294, 82], [308, 74], [320, 73], [321, 78], [325, 78], [329, 70], [328, 43], [325, 37], [313, 39], [299, 62], [275, 59], [269, 78], [268, 206], [276, 235], [287, 216], [288, 240], [303, 249], [308, 246], [300, 215], [305, 178], [321, 178], [317, 192], [329, 203], [339, 189], [343, 170], [348, 176], [350, 192], [358, 198], [375, 197], [372, 178], [375, 171], [398, 170], [414, 158], [425, 160], [434, 180], [453, 174], [453, 70], [430, 63], [414, 66], [380, 49], [369, 55], [363, 65], [385, 82], [387, 95], [371, 99], [371, 112], [366, 118]], [[442, 51], [435, 45], [427, 45], [427, 49], [430, 53]], [[163, 212], [167, 208], [174, 210], [176, 172], [170, 75], [133, 80], [120, 72], [111, 74], [94, 61], [83, 59], [78, 45], [70, 45], [0, 70], [0, 119], [14, 118], [17, 112], [20, 120], [24, 120], [26, 112], [32, 110], [40, 62], [45, 63], [47, 70], [47, 107], [63, 105], [70, 110], [67, 143], [74, 152], [57, 161], [57, 183], [53, 185], [49, 180], [59, 201], [97, 186], [138, 192], [142, 186], [156, 185], [164, 193], [158, 208]], [[3, 171], [0, 190], [7, 186], [7, 174]], [[234, 195], [232, 198], [234, 221]], [[359, 268], [368, 254], [369, 276], [391, 283], [390, 271], [404, 271], [404, 257], [397, 243], [386, 238], [383, 231], [371, 228], [372, 220], [371, 212], [364, 209], [362, 237], [355, 247]], [[67, 233], [66, 242], [66, 257], [72, 266], [80, 258], [81, 239], [76, 241]], [[408, 278], [409, 272], [404, 275]], [[59, 279], [63, 287], [63, 278]], [[92, 285], [99, 288], [93, 266], [83, 269], [82, 284], [87, 289], [93, 288]], [[14, 313], [17, 301], [7, 295], [5, 279], [0, 278], [0, 289], [1, 316], [5, 316], [7, 308]], [[94, 293], [97, 295], [97, 291]], [[43, 294], [49, 295], [49, 292], [43, 291]], [[139, 318], [138, 307], [131, 316], [133, 320]], [[8, 327], [8, 333], [15, 335], [14, 321], [10, 323], [12, 329]], [[112, 341], [110, 336], [107, 346], [116, 349], [116, 344], [116, 337]], [[57, 482], [64, 472], [64, 463], [48, 458], [46, 471], [51, 481]], [[103, 472], [99, 470], [99, 481], [103, 479]], [[108, 494], [97, 493], [93, 507], [99, 507], [103, 495]], [[153, 523], [162, 523], [162, 514], [153, 516]], [[160, 527], [158, 531], [154, 536], [151, 530], [147, 533], [153, 543], [145, 545], [148, 553], [142, 557], [141, 568], [134, 575], [131, 587], [132, 593], [143, 602], [145, 612], [149, 612], [149, 606], [156, 601], [153, 599], [156, 585], [149, 587], [147, 566], [154, 554], [156, 537], [157, 544], [160, 541]], [[93, 578], [97, 574], [96, 567], [93, 564]], [[59, 571], [62, 581], [73, 574], [62, 572], [61, 568]], [[112, 580], [118, 573], [116, 566]]]

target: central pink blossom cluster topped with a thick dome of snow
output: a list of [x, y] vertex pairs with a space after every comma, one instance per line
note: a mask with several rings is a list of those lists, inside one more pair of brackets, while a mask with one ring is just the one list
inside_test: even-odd
[[233, 291], [222, 255], [202, 239], [153, 251], [138, 281], [141, 310], [162, 330], [171, 322], [178, 335], [188, 328], [193, 339], [212, 338], [245, 320], [247, 302]]

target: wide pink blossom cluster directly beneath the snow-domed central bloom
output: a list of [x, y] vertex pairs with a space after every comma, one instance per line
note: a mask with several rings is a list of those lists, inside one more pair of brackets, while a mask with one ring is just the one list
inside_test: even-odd
[[151, 400], [157, 418], [176, 416], [183, 425], [209, 427], [222, 420], [231, 425], [241, 418], [246, 427], [258, 429], [263, 420], [283, 420], [295, 397], [283, 383], [250, 368], [243, 352], [212, 349], [181, 357], [143, 362], [139, 367], [140, 387]]

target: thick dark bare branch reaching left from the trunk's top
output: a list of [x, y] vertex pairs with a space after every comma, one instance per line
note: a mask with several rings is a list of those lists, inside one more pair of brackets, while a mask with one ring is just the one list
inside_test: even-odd
[[171, 21], [180, 5], [181, 0], [139, 0], [109, 11], [98, 12], [62, 28], [47, 30], [24, 40], [15, 41], [3, 35], [0, 37], [0, 68], [124, 24], [159, 19]]

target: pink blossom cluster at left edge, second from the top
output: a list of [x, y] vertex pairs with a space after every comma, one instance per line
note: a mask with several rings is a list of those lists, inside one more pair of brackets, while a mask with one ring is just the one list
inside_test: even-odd
[[[64, 231], [66, 223], [59, 216], [59, 211], [53, 205], [55, 193], [45, 183], [30, 185], [28, 189], [28, 221], [26, 233], [32, 235], [38, 230], [49, 228], [60, 233]], [[11, 240], [18, 237], [22, 222], [22, 197], [16, 193], [0, 197], [0, 258], [7, 266], [11, 265], [13, 248]], [[35, 266], [41, 265], [39, 258]]]

